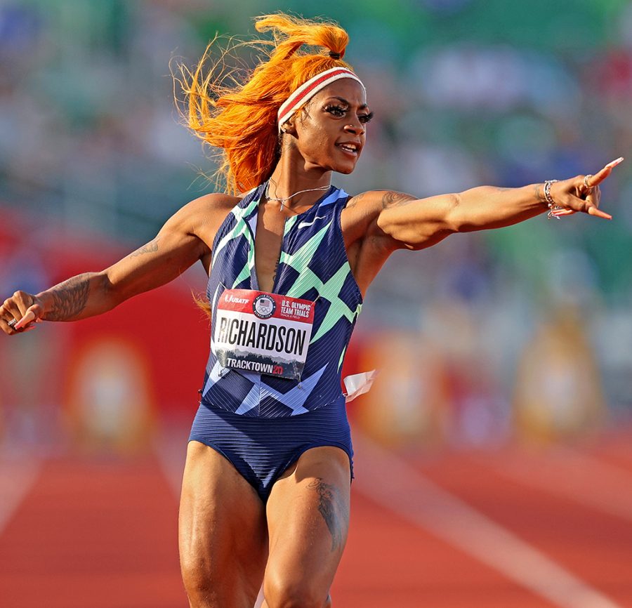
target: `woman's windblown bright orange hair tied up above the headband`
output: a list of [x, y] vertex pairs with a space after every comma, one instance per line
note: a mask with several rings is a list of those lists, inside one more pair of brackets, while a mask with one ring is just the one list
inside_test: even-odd
[[[230, 49], [206, 71], [215, 40], [195, 70], [180, 67], [187, 124], [195, 136], [221, 149], [218, 176], [231, 194], [247, 192], [272, 175], [280, 156], [277, 112], [289, 95], [320, 72], [350, 69], [348, 63], [329, 56], [332, 52], [342, 58], [349, 41], [347, 32], [334, 23], [277, 13], [258, 17], [255, 27], [258, 32], [271, 31], [274, 40], [234, 45], [256, 48], [263, 55], [244, 83], [235, 82], [231, 72], [232, 86], [225, 86], [227, 76], [218, 76], [218, 66]], [[325, 51], [303, 51], [303, 45]]]

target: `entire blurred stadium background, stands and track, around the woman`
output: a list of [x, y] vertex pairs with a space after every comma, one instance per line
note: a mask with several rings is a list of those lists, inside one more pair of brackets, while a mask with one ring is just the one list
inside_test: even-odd
[[[630, 156], [628, 1], [5, 0], [1, 293], [99, 270], [213, 190], [169, 65], [277, 10], [350, 34], [376, 117], [357, 171], [335, 179], [348, 192], [511, 187]], [[603, 186], [612, 222], [540, 216], [384, 267], [346, 362], [380, 375], [350, 405], [358, 480], [338, 606], [564, 605], [533, 586], [522, 597], [520, 576], [389, 504], [397, 489], [376, 477], [389, 458], [423, 476], [404, 502], [434, 480], [607, 596], [570, 606], [632, 605], [631, 198], [628, 159]], [[106, 317], [0, 340], [0, 605], [184, 605], [175, 496], [206, 360], [203, 290], [194, 268]]]

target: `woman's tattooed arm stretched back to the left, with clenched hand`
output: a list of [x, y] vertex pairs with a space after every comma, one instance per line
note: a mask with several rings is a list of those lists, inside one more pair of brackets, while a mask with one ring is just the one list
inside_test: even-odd
[[164, 285], [197, 260], [207, 264], [212, 237], [232, 197], [210, 194], [185, 205], [152, 241], [100, 272], [86, 272], [37, 295], [16, 291], [0, 306], [0, 329], [12, 335], [38, 321], [77, 321]]

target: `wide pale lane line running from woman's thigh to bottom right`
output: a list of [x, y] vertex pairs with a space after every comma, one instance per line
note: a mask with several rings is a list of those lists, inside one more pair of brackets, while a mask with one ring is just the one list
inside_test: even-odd
[[622, 608], [550, 557], [354, 430], [355, 489], [560, 608]]

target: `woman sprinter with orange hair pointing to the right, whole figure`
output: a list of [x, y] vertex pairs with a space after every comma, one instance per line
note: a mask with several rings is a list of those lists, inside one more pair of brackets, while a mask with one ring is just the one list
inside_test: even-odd
[[[515, 189], [416, 199], [349, 196], [371, 112], [343, 62], [343, 29], [285, 15], [256, 22], [275, 41], [249, 79], [220, 88], [185, 73], [188, 119], [223, 151], [229, 194], [206, 194], [157, 237], [102, 272], [0, 307], [8, 335], [38, 321], [100, 315], [197, 262], [209, 274], [211, 355], [180, 503], [180, 561], [191, 607], [329, 607], [352, 477], [341, 366], [362, 296], [390, 253], [541, 213], [598, 209], [618, 164]], [[268, 46], [263, 46], [267, 44]], [[309, 45], [311, 51], [301, 50]], [[205, 55], [206, 56], [206, 55]]]

